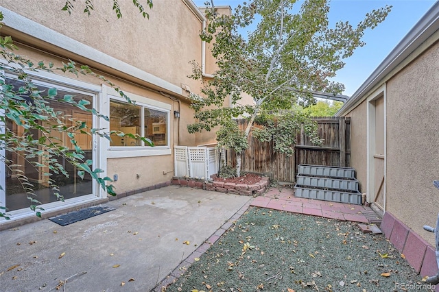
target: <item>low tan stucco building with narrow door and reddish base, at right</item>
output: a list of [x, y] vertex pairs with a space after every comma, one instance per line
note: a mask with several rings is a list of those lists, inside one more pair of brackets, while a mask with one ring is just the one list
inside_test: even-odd
[[434, 258], [423, 225], [436, 226], [439, 212], [438, 84], [436, 2], [337, 113], [351, 117], [351, 166], [367, 202], [418, 271]]

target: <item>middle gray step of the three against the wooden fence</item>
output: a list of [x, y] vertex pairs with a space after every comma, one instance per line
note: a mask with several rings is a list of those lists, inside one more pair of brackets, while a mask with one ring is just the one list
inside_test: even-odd
[[344, 191], [358, 191], [358, 181], [355, 179], [342, 180], [338, 178], [319, 178], [314, 176], [297, 175], [296, 184], [312, 188], [332, 188]]

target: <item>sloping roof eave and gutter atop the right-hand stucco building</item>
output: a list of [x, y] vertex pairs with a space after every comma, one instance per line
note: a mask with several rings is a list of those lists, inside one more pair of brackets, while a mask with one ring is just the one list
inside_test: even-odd
[[424, 14], [424, 16], [414, 25], [405, 37], [394, 47], [389, 55], [379, 64], [377, 69], [361, 84], [353, 96], [348, 99], [346, 104], [335, 114], [335, 117], [341, 117], [347, 114], [355, 107], [359, 101], [366, 98], [366, 95], [383, 81], [383, 78], [396, 69], [405, 58], [410, 56], [420, 45], [425, 42], [439, 29], [439, 1]]

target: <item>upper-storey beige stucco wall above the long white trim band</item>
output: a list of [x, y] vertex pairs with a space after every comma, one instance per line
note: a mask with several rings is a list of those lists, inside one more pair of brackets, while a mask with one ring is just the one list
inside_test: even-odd
[[[132, 64], [177, 86], [191, 90], [199, 82], [190, 80], [189, 61], [201, 62], [199, 33], [202, 21], [182, 0], [154, 1], [143, 19], [132, 1], [119, 1], [122, 18], [117, 19], [111, 1], [93, 1], [95, 10], [87, 16], [84, 1], [73, 2], [72, 14], [61, 11], [64, 0], [2, 0], [0, 5], [28, 19], [41, 23], [109, 56]], [[178, 66], [176, 66], [178, 64]]]

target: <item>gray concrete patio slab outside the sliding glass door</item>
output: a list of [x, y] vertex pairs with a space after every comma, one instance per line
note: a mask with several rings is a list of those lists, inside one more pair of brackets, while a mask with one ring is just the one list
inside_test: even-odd
[[0, 291], [150, 291], [250, 199], [167, 186], [68, 226], [45, 219], [3, 230]]

